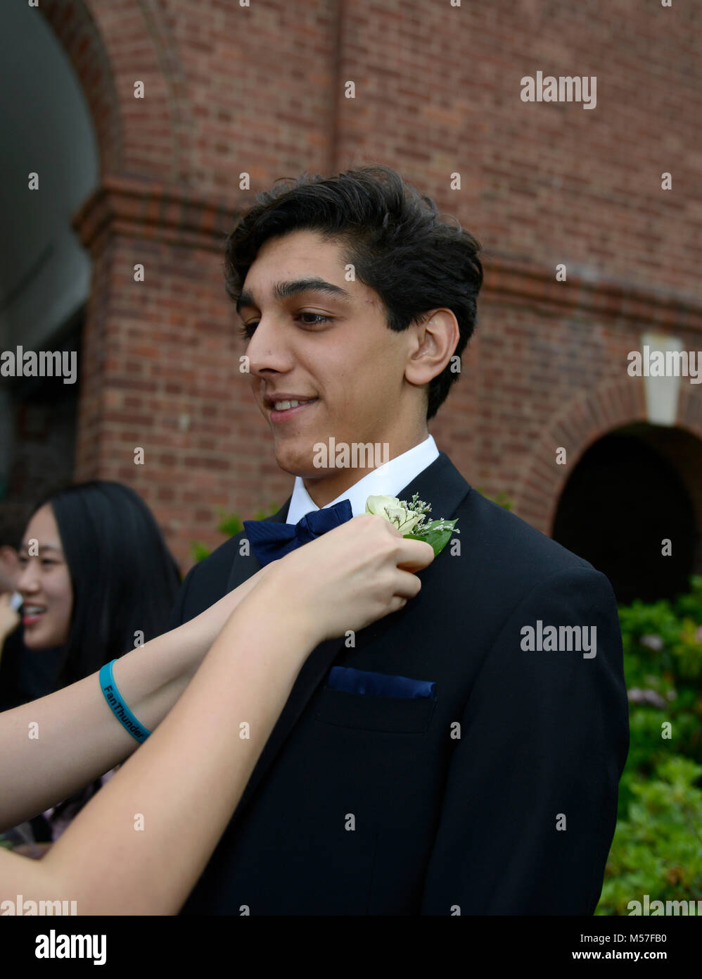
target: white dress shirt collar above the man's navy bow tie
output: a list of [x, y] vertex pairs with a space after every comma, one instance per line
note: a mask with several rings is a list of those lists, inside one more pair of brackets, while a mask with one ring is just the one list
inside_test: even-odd
[[[358, 483], [354, 483], [336, 499], [326, 503], [323, 509], [333, 506], [342, 499], [347, 499], [351, 504], [354, 517], [358, 517], [359, 514], [366, 512], [366, 500], [369, 496], [397, 496], [401, 489], [405, 489], [409, 483], [412, 483], [415, 477], [438, 457], [439, 450], [436, 443], [431, 436], [428, 436], [414, 448], [408, 449], [402, 455], [396, 455], [394, 459], [367, 473]], [[305, 489], [302, 477], [295, 476], [285, 523], [296, 524], [313, 510], [319, 510], [319, 506]]]

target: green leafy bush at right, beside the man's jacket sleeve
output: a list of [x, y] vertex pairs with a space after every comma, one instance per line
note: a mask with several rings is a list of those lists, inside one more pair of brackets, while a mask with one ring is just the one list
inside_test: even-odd
[[702, 577], [619, 608], [631, 747], [596, 914], [702, 897]]

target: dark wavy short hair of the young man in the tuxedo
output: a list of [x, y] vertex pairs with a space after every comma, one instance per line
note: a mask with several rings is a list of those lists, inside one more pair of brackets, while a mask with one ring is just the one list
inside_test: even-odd
[[[461, 356], [475, 329], [476, 300], [483, 282], [481, 246], [458, 219], [382, 164], [280, 178], [256, 196], [229, 235], [225, 251], [227, 292], [236, 302], [261, 245], [303, 229], [339, 242], [344, 264], [385, 305], [391, 330], [406, 330], [431, 309], [452, 309]], [[292, 181], [290, 183], [290, 181]], [[447, 364], [428, 384], [426, 419], [433, 418], [459, 373]]]

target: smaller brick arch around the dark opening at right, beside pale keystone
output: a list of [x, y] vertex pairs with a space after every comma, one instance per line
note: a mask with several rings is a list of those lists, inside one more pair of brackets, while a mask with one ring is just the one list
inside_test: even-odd
[[[522, 472], [514, 496], [515, 512], [543, 534], [550, 535], [561, 492], [592, 443], [623, 426], [646, 421], [643, 382], [639, 378], [604, 383], [569, 400], [553, 419]], [[670, 431], [686, 432], [700, 440], [698, 457], [690, 461], [690, 466], [702, 472], [702, 392], [693, 393], [689, 385], [681, 386], [677, 428]], [[565, 466], [555, 462], [555, 449], [561, 445], [568, 453]], [[702, 500], [694, 502], [700, 512]]]

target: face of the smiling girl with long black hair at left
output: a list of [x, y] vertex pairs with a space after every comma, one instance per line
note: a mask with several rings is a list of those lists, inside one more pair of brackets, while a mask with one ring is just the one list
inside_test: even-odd
[[29, 521], [19, 555], [24, 645], [50, 649], [68, 639], [73, 588], [61, 544], [59, 528], [50, 503]]

